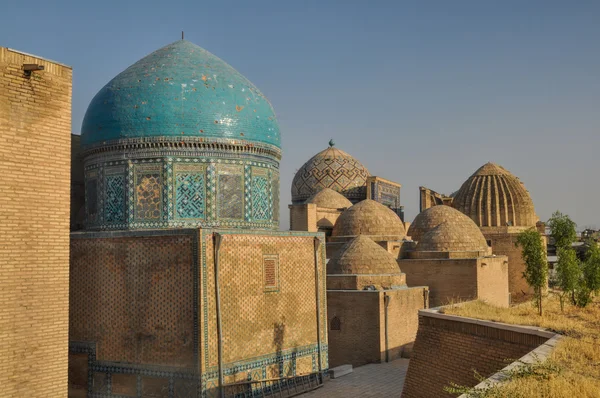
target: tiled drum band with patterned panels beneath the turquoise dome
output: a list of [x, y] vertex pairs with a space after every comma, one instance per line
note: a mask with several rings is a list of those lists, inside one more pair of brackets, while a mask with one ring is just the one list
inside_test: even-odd
[[85, 170], [88, 230], [278, 228], [273, 161], [176, 156], [88, 162]]

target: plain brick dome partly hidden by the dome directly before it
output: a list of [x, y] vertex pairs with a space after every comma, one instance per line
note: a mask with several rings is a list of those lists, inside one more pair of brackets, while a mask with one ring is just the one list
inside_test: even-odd
[[450, 206], [437, 205], [419, 213], [410, 224], [407, 235], [419, 242], [423, 235], [444, 222], [450, 223], [457, 230], [479, 232], [477, 224], [460, 211]]

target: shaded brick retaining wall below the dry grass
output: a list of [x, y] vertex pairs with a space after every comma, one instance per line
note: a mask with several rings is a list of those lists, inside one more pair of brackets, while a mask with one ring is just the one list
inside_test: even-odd
[[489, 377], [548, 339], [547, 333], [421, 311], [403, 398], [452, 397], [454, 382], [475, 386], [473, 370]]

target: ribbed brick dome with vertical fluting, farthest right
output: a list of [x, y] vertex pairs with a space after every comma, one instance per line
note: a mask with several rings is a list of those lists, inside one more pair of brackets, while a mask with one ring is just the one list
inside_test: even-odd
[[494, 163], [484, 164], [464, 182], [452, 206], [480, 227], [533, 227], [539, 220], [523, 183]]

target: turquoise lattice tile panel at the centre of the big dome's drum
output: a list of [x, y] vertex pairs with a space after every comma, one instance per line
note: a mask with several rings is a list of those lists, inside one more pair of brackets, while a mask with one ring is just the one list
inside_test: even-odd
[[177, 173], [175, 175], [176, 217], [204, 218], [205, 189], [204, 173]]

